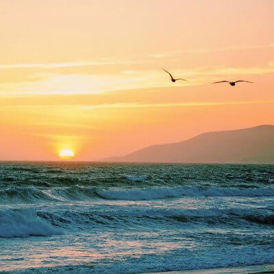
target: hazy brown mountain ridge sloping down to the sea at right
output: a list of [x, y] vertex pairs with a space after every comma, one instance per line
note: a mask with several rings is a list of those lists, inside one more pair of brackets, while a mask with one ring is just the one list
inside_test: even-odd
[[104, 161], [274, 163], [274, 125], [204, 132], [187, 140], [151, 145]]

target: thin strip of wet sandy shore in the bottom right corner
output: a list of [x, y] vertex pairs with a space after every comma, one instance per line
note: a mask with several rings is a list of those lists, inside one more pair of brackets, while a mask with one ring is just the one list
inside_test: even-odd
[[260, 264], [242, 267], [224, 267], [220, 269], [199, 269], [183, 271], [162, 271], [139, 274], [262, 274], [274, 273], [274, 264]]

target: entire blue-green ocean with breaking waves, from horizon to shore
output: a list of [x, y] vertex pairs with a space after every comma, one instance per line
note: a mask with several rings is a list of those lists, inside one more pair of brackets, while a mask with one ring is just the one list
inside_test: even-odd
[[1, 273], [274, 264], [274, 165], [0, 162]]

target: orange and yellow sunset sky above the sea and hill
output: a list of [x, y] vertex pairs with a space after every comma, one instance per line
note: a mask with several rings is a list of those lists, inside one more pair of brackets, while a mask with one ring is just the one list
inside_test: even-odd
[[[102, 160], [273, 125], [273, 10], [272, 0], [1, 0], [0, 160], [59, 160], [62, 149]], [[238, 79], [254, 84], [210, 84]]]

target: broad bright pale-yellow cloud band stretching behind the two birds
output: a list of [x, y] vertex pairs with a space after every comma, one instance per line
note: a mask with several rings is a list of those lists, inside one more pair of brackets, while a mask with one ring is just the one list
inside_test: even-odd
[[[171, 88], [179, 86], [199, 86], [213, 82], [219, 77], [229, 80], [231, 77], [242, 77], [252, 82], [251, 75], [274, 73], [274, 61], [265, 66], [203, 66], [190, 69], [174, 70], [175, 76], [184, 77], [188, 82], [172, 83], [169, 75], [161, 69], [119, 71], [109, 75], [48, 75], [36, 83], [3, 85], [0, 97], [31, 97], [34, 95], [91, 95], [103, 92], [119, 92], [144, 88]], [[233, 78], [232, 78], [233, 79]], [[3, 90], [5, 88], [5, 91]], [[10, 88], [11, 90], [8, 90]]]

